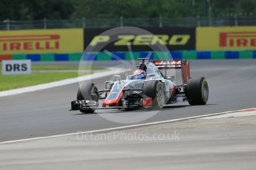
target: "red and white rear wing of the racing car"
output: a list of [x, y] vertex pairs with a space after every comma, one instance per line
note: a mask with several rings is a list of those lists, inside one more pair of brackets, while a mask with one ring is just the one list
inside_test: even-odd
[[[154, 65], [158, 69], [181, 69], [183, 84], [188, 83], [188, 79], [190, 78], [190, 65], [189, 61], [186, 60], [157, 60], [153, 61]], [[165, 72], [166, 74], [166, 72]], [[166, 76], [166, 75], [165, 75]]]

